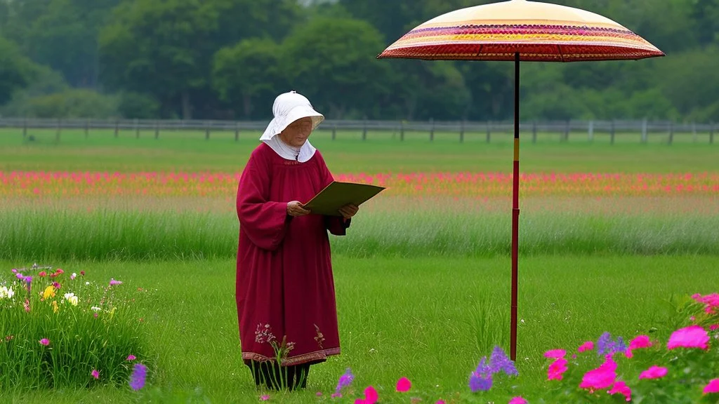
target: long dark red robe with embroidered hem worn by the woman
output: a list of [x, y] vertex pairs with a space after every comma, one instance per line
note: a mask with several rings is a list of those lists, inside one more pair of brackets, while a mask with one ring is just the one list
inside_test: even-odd
[[350, 220], [287, 214], [288, 202], [306, 203], [332, 180], [319, 150], [297, 162], [261, 143], [244, 167], [237, 189], [237, 317], [246, 362], [274, 359], [272, 337], [293, 344], [283, 365], [339, 354], [327, 231], [344, 235]]

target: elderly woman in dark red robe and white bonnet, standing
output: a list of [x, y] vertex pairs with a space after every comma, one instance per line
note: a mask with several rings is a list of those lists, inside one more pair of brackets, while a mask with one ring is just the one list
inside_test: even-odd
[[324, 116], [295, 91], [275, 99], [273, 114], [237, 189], [237, 317], [255, 384], [291, 390], [306, 387], [311, 364], [339, 354], [327, 231], [344, 235], [357, 206], [341, 216], [304, 208], [333, 180], [308, 141]]

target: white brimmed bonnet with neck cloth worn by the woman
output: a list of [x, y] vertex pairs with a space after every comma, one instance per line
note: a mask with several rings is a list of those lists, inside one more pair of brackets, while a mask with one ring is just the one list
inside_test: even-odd
[[315, 111], [310, 101], [296, 91], [283, 93], [275, 98], [272, 111], [275, 118], [267, 125], [267, 129], [265, 129], [265, 133], [262, 134], [260, 140], [287, 160], [297, 160], [299, 162], [310, 160], [316, 149], [310, 144], [309, 139], [306, 140], [302, 147], [293, 147], [283, 142], [277, 135], [292, 122], [306, 117], [312, 118], [312, 130], [314, 130], [324, 121], [324, 116]]

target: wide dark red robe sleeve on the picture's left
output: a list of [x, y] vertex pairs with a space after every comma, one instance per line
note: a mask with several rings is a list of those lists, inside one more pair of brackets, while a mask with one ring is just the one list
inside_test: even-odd
[[280, 246], [292, 216], [287, 203], [268, 201], [270, 170], [267, 162], [253, 153], [237, 187], [239, 229], [252, 244], [273, 251]]

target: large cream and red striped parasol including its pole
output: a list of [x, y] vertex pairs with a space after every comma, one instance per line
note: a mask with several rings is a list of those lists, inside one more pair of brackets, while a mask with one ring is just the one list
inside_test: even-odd
[[377, 58], [514, 60], [510, 359], [516, 359], [519, 227], [519, 62], [638, 60], [664, 56], [629, 29], [582, 9], [527, 0], [467, 7], [430, 19]]

